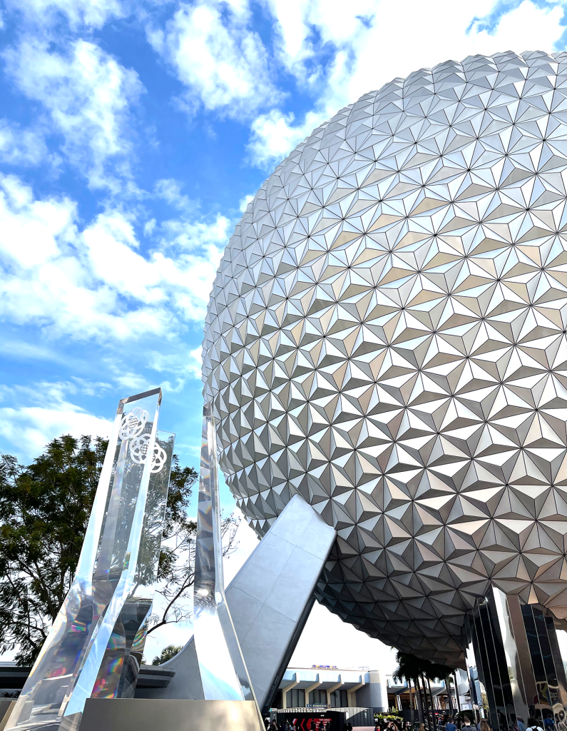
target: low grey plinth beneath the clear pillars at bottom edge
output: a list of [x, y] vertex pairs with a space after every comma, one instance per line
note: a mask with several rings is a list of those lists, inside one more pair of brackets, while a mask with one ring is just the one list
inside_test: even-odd
[[265, 731], [251, 700], [88, 698], [80, 731]]

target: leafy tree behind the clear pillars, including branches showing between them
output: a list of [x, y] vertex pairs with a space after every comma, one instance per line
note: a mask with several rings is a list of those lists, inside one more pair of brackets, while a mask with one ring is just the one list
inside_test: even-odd
[[[64, 435], [28, 466], [0, 455], [0, 653], [17, 648], [20, 665], [34, 662], [71, 586], [106, 448], [104, 439]], [[158, 572], [168, 605], [151, 630], [186, 616], [175, 602], [194, 581], [197, 526], [187, 509], [196, 480], [174, 455]], [[223, 522], [225, 553], [235, 548], [236, 526], [232, 517]]]

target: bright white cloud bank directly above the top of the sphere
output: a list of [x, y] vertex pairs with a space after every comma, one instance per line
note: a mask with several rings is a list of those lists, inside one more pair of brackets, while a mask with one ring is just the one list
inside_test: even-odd
[[254, 120], [248, 149], [261, 167], [273, 166], [340, 108], [395, 77], [477, 53], [550, 51], [565, 30], [563, 1], [537, 7], [524, 0], [503, 12], [492, 34], [475, 20], [490, 12], [492, 0], [474, 7], [454, 0], [269, 0], [268, 6], [281, 58], [300, 81], [313, 80], [308, 62], [316, 52], [331, 47], [335, 55], [313, 110], [299, 124], [280, 110]]

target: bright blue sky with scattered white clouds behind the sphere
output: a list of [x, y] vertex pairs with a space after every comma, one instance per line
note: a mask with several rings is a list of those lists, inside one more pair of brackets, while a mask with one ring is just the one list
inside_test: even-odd
[[394, 77], [563, 50], [565, 5], [0, 1], [0, 451], [107, 433], [119, 398], [161, 385], [197, 466], [208, 293], [248, 197]]

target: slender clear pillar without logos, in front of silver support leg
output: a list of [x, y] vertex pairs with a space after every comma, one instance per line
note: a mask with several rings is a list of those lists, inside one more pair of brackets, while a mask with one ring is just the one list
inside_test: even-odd
[[254, 700], [240, 644], [224, 596], [215, 424], [203, 407], [194, 637], [205, 700]]

